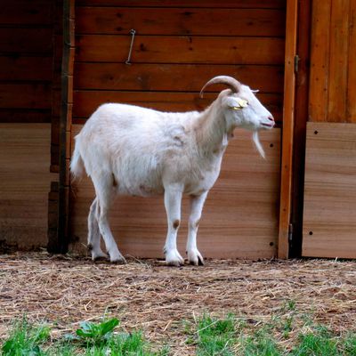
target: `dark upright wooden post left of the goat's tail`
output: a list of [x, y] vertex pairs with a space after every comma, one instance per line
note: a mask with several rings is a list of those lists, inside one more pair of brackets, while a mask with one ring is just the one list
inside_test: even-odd
[[75, 0], [63, 2], [63, 55], [61, 64], [61, 117], [57, 234], [48, 241], [48, 251], [66, 253], [69, 245], [69, 158], [73, 107], [73, 63], [75, 51]]

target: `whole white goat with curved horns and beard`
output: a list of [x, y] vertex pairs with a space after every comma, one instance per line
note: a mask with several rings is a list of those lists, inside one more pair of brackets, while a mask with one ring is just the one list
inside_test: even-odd
[[190, 263], [203, 264], [197, 248], [198, 223], [235, 127], [254, 132], [256, 148], [264, 157], [257, 132], [274, 125], [271, 113], [253, 91], [232, 77], [214, 77], [201, 93], [207, 85], [219, 83], [230, 89], [221, 92], [205, 111], [168, 113], [108, 103], [101, 105], [77, 134], [70, 169], [77, 177], [85, 167], [96, 193], [88, 216], [88, 248], [93, 260], [107, 256], [101, 251], [102, 236], [110, 261], [125, 262], [109, 228], [108, 212], [115, 196], [164, 194], [168, 223], [166, 263], [184, 263], [176, 238], [182, 194], [188, 194], [186, 252]]

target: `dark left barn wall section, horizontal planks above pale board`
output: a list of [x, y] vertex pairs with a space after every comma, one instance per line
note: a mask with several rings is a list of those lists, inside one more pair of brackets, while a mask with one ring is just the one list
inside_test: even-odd
[[46, 246], [53, 11], [48, 0], [1, 4], [0, 250]]

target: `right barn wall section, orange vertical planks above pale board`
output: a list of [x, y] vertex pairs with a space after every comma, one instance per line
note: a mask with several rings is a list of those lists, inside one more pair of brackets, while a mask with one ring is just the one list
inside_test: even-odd
[[356, 258], [356, 0], [312, 2], [303, 255]]

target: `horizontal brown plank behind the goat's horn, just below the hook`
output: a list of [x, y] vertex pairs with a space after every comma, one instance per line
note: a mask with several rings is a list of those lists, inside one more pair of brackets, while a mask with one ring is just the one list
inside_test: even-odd
[[[190, 64], [135, 64], [77, 62], [76, 89], [198, 92], [212, 77], [239, 78], [264, 93], [282, 93], [282, 66], [227, 66]], [[211, 86], [206, 92], [216, 90]]]

